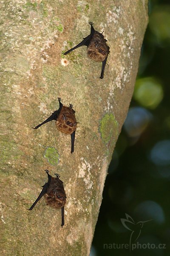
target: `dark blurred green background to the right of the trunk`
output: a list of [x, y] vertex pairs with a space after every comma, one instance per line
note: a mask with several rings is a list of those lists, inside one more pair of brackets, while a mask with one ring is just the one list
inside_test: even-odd
[[[170, 1], [150, 0], [149, 16], [136, 87], [108, 170], [91, 256], [170, 255]], [[152, 220], [141, 230], [135, 224], [130, 228], [134, 234], [141, 232], [136, 241], [132, 236], [133, 243], [155, 248], [143, 245], [130, 252], [123, 247], [132, 233], [120, 220], [125, 213], [135, 224]]]

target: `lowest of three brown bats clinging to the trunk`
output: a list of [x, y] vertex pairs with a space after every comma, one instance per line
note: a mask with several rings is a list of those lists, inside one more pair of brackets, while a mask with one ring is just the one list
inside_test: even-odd
[[63, 182], [59, 179], [59, 174], [55, 174], [56, 178], [51, 177], [49, 175], [49, 171], [45, 170], [45, 172], [48, 175], [48, 182], [44, 184], [43, 189], [38, 196], [38, 198], [35, 200], [34, 204], [28, 209], [32, 210], [34, 206], [37, 204], [37, 202], [42, 198], [42, 196], [45, 197], [45, 201], [48, 205], [58, 208], [61, 208], [61, 226], [64, 226], [64, 206], [66, 203], [66, 195], [65, 190], [63, 186]]

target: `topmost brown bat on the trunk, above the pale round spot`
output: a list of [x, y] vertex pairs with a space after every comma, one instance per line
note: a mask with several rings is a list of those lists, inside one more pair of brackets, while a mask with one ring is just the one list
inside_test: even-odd
[[107, 40], [104, 38], [102, 33], [99, 33], [94, 29], [93, 23], [89, 22], [89, 24], [91, 25], [90, 35], [88, 35], [86, 38], [83, 38], [82, 42], [65, 52], [64, 55], [67, 55], [69, 52], [72, 52], [74, 49], [77, 49], [83, 45], [87, 46], [88, 57], [93, 59], [94, 61], [102, 62], [100, 78], [103, 79], [106, 61], [110, 52], [110, 47], [108, 47], [108, 45], [106, 44]]

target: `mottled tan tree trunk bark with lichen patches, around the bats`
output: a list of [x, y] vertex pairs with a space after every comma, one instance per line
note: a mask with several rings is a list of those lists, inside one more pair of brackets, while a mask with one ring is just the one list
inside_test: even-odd
[[[110, 55], [101, 63], [86, 47], [61, 54], [103, 30]], [[147, 25], [147, 0], [12, 0], [1, 2], [1, 172], [2, 255], [89, 255], [113, 148], [125, 120]], [[63, 60], [66, 58], [66, 60]], [[67, 62], [68, 61], [68, 62]], [[68, 65], [65, 65], [68, 64]], [[31, 127], [72, 103], [77, 125], [71, 139], [50, 122]], [[60, 210], [42, 198], [45, 169], [61, 175], [67, 204]]]

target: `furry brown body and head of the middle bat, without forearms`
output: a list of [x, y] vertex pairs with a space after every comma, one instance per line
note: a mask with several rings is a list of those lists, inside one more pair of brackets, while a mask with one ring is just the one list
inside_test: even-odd
[[77, 123], [75, 118], [75, 111], [69, 107], [63, 107], [63, 111], [57, 118], [56, 125], [57, 129], [65, 134], [72, 134], [76, 128]]

